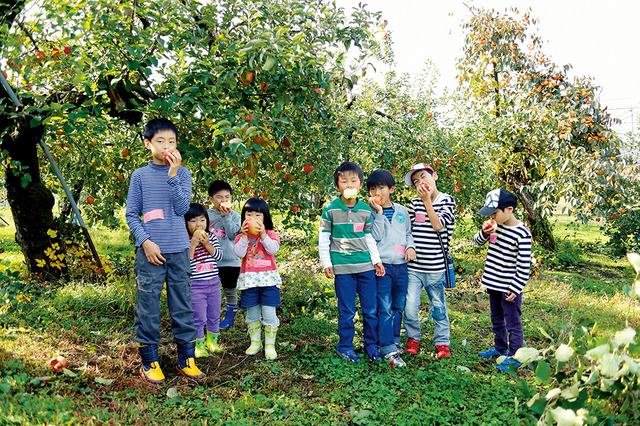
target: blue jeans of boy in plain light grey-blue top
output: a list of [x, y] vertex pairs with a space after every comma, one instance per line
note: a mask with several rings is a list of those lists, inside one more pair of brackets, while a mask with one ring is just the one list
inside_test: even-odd
[[386, 355], [400, 343], [402, 312], [407, 298], [407, 264], [384, 264], [385, 275], [376, 277], [378, 297], [378, 344]]

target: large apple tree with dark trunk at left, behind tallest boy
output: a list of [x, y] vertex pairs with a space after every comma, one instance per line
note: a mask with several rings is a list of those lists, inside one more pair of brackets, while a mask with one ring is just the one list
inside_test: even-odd
[[4, 186], [29, 271], [54, 277], [68, 209], [54, 214], [64, 196], [41, 138], [92, 222], [119, 224], [156, 116], [179, 128], [195, 201], [222, 178], [301, 211], [340, 152], [332, 104], [383, 49], [378, 14], [319, 0], [14, 3], [0, 2], [1, 66], [22, 104], [0, 92]]

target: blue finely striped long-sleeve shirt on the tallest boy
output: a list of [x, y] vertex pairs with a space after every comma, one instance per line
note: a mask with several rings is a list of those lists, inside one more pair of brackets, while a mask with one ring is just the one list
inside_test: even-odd
[[126, 219], [136, 247], [150, 239], [162, 253], [189, 248], [184, 214], [191, 202], [191, 173], [184, 167], [169, 178], [169, 166], [150, 162], [131, 175]]

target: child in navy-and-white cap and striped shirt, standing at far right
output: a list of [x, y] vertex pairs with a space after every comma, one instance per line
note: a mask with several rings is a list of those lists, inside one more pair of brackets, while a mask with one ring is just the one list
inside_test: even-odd
[[[489, 241], [482, 285], [489, 294], [494, 347], [478, 354], [483, 358], [507, 355], [499, 370], [508, 371], [509, 364], [522, 364], [513, 356], [522, 347], [522, 290], [529, 280], [531, 267], [531, 232], [513, 215], [518, 199], [499, 188], [487, 194], [479, 215], [491, 216], [473, 237], [479, 244]], [[509, 338], [507, 341], [507, 332]]]

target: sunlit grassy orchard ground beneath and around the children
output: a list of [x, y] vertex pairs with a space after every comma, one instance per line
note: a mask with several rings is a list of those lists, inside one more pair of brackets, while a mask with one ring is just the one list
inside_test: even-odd
[[[285, 282], [278, 359], [244, 354], [248, 340], [240, 314], [222, 336], [224, 352], [198, 360], [207, 375], [200, 384], [173, 368], [176, 351], [166, 310], [160, 364], [167, 381], [154, 387], [139, 379], [131, 277], [44, 289], [6, 283], [12, 298], [0, 308], [0, 423], [534, 424], [525, 406], [531, 395], [522, 385], [533, 383], [531, 371], [520, 371], [517, 378], [499, 374], [476, 355], [492, 345], [488, 299], [476, 274], [484, 253], [468, 244], [472, 230], [463, 225], [454, 250], [462, 272], [458, 287], [447, 293], [454, 356], [435, 359], [427, 302], [423, 349], [405, 356], [405, 369], [336, 357], [332, 285], [320, 274], [315, 244], [300, 232], [283, 233], [278, 254]], [[635, 275], [626, 260], [606, 255], [596, 224], [575, 231], [564, 220], [555, 226], [565, 256], [536, 253], [542, 265], [523, 302], [527, 345], [542, 349], [567, 342], [576, 327], [596, 322], [602, 336], [627, 323], [638, 327], [640, 303], [622, 292]], [[12, 239], [7, 228], [0, 228], [5, 241]], [[93, 234], [101, 254], [131, 255], [126, 232]], [[0, 254], [3, 265], [9, 251]], [[11, 251], [19, 257], [17, 247]], [[359, 329], [360, 350], [361, 336]], [[67, 373], [47, 368], [55, 353], [69, 360]]]

